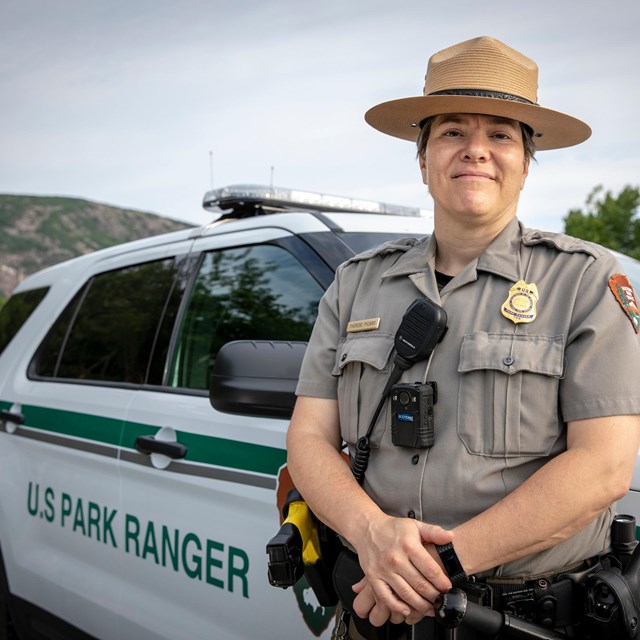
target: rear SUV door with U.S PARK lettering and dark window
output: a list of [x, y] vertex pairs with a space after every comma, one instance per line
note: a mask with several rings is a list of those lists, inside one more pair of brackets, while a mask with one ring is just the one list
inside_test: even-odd
[[10, 345], [23, 353], [1, 397], [24, 422], [0, 434], [9, 586], [97, 638], [135, 637], [120, 624], [131, 600], [118, 444], [135, 389], [162, 375], [189, 244], [70, 267], [32, 341]]

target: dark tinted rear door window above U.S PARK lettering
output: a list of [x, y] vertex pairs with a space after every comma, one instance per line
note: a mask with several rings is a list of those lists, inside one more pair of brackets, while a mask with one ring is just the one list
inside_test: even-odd
[[38, 350], [46, 378], [160, 384], [181, 285], [173, 259], [91, 278]]

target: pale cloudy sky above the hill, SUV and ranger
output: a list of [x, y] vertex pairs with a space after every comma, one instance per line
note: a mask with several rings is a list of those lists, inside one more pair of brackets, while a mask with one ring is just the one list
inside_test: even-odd
[[528, 226], [562, 231], [595, 186], [640, 186], [639, 24], [637, 0], [0, 0], [0, 193], [195, 224], [232, 184], [431, 210], [414, 145], [364, 113], [490, 35], [593, 129], [539, 152], [521, 195]]

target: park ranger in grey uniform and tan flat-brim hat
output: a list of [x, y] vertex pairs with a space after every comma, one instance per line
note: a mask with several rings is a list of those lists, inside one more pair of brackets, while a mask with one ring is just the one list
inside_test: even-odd
[[[456, 44], [431, 57], [424, 95], [366, 120], [417, 141], [435, 231], [338, 269], [300, 375], [289, 469], [364, 574], [341, 594], [354, 616], [336, 635], [438, 637], [433, 603], [452, 584], [553, 584], [608, 551], [640, 441], [638, 306], [606, 250], [517, 218], [535, 150], [591, 133], [537, 104], [532, 60], [489, 37]], [[388, 382], [414, 300], [435, 303], [447, 329], [403, 362], [397, 384], [432, 390], [430, 436], [407, 443], [394, 420], [425, 418], [396, 411]], [[356, 478], [340, 450], [353, 466], [363, 438]], [[581, 637], [561, 609], [551, 626]]]

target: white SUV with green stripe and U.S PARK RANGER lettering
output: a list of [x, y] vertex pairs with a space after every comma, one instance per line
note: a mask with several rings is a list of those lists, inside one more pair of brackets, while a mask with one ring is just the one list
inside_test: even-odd
[[267, 580], [296, 364], [337, 265], [431, 225], [273, 189], [205, 205], [233, 212], [46, 269], [0, 313], [0, 640], [329, 636], [304, 579]]

